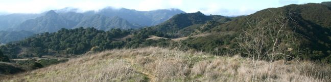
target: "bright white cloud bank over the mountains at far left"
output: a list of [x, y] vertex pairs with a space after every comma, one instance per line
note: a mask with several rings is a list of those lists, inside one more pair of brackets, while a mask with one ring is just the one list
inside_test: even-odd
[[[0, 0], [1, 1], [1, 0]], [[66, 7], [79, 8], [80, 10], [98, 10], [112, 6], [111, 1], [103, 0], [30, 0], [30, 1], [4, 1], [0, 3], [0, 11], [9, 13], [41, 13], [48, 10], [62, 9]]]

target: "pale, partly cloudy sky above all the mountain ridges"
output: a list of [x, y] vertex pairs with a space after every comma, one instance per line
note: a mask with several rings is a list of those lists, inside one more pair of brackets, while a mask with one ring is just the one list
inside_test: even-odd
[[177, 8], [186, 13], [201, 11], [207, 15], [238, 16], [266, 8], [327, 1], [330, 0], [0, 0], [0, 14], [41, 13], [66, 7], [81, 11], [114, 7], [138, 11]]

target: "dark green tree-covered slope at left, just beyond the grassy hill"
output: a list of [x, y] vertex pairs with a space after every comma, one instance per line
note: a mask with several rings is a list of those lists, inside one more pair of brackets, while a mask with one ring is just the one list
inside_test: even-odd
[[45, 32], [19, 42], [10, 43], [1, 46], [0, 49], [10, 58], [83, 54], [88, 51], [122, 48], [124, 42], [114, 38], [127, 36], [129, 33], [129, 31], [121, 29], [102, 31], [96, 28], [63, 28], [58, 32]]

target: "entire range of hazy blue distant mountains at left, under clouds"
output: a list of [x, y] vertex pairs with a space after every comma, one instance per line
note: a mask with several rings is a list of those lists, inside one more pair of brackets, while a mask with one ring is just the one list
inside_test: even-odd
[[77, 27], [95, 27], [100, 30], [129, 29], [156, 25], [180, 13], [185, 12], [178, 9], [136, 11], [107, 7], [99, 11], [77, 13], [77, 9], [65, 8], [41, 14], [2, 15], [0, 30], [26, 30], [41, 33], [55, 32], [60, 28]]

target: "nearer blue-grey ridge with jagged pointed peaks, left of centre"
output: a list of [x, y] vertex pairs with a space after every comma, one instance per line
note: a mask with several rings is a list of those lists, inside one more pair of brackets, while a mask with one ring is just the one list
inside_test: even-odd
[[[62, 16], [63, 15], [63, 16]], [[68, 14], [58, 14], [55, 11], [45, 13], [45, 16], [27, 20], [16, 26], [14, 30], [33, 31], [35, 33], [56, 32], [61, 28], [94, 27], [99, 30], [109, 30], [111, 28], [130, 29], [141, 26], [132, 25], [119, 17], [106, 17], [103, 15], [83, 16], [79, 13], [70, 12]]]

